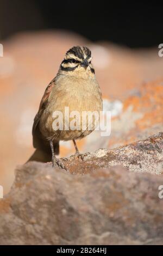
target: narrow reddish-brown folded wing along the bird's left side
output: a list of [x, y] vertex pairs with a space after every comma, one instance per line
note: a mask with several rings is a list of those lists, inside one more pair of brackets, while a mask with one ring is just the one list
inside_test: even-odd
[[[55, 79], [55, 78], [54, 78]], [[33, 128], [32, 128], [32, 135], [33, 135], [33, 145], [34, 148], [37, 148], [37, 137], [39, 135], [39, 129], [38, 128], [38, 124], [40, 121], [40, 117], [43, 113], [43, 111], [45, 110], [47, 104], [48, 104], [48, 97], [52, 92], [52, 89], [54, 87], [54, 79], [51, 81], [51, 83], [48, 84], [45, 93], [43, 94], [43, 97], [41, 99], [40, 102], [40, 106], [39, 106], [39, 111], [37, 112], [35, 118], [34, 118], [34, 124], [33, 124]], [[40, 137], [40, 136], [39, 136]]]

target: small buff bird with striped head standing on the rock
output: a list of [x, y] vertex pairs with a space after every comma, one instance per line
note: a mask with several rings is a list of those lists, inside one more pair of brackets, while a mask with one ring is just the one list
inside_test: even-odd
[[[73, 46], [65, 54], [57, 76], [48, 84], [40, 102], [32, 129], [33, 146], [36, 149], [28, 161], [52, 161], [53, 167], [64, 168], [56, 157], [59, 154], [60, 141], [73, 141], [76, 155], [80, 155], [76, 140], [89, 135], [95, 129], [93, 119], [92, 129], [86, 122], [82, 130], [82, 121], [78, 130], [54, 130], [53, 112], [65, 113], [65, 107], [71, 111], [96, 111], [103, 108], [102, 92], [96, 80], [92, 65], [91, 51], [86, 46]], [[99, 121], [99, 120], [98, 120]], [[64, 120], [63, 120], [64, 122]]]

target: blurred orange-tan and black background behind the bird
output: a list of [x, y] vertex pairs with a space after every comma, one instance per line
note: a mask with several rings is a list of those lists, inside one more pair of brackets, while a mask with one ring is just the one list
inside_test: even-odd
[[[78, 142], [82, 152], [115, 148], [162, 131], [162, 8], [156, 2], [0, 0], [0, 185], [34, 152], [33, 119], [68, 48], [90, 47], [111, 136]], [[74, 153], [61, 142], [60, 156]]]

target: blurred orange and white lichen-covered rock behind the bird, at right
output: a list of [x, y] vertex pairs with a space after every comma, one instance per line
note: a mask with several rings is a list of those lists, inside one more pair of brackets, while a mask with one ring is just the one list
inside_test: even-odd
[[162, 80], [143, 83], [139, 94], [123, 101], [123, 112], [111, 120], [109, 148], [145, 139], [162, 131]]

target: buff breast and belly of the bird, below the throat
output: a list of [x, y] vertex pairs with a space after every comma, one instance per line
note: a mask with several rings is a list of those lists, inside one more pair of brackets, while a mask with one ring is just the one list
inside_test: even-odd
[[[78, 111], [81, 115], [79, 130], [53, 130], [53, 112], [60, 111], [65, 122], [65, 107], [69, 112]], [[40, 118], [40, 131], [45, 138], [53, 138], [54, 141], [79, 139], [88, 135], [91, 130], [83, 131], [83, 111], [102, 111], [102, 95], [95, 76], [61, 76], [55, 83], [48, 105]], [[71, 121], [71, 119], [70, 119]], [[87, 123], [85, 124], [87, 125]], [[92, 124], [94, 127], [95, 124]], [[93, 129], [92, 129], [93, 130]]]

